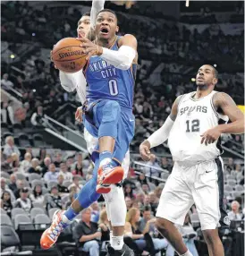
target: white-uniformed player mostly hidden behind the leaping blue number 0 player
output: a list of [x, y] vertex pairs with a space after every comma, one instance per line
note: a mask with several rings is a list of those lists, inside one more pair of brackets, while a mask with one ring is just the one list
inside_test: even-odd
[[[78, 37], [89, 37], [90, 29], [95, 26], [97, 13], [104, 8], [105, 0], [97, 0], [92, 2], [92, 9], [89, 17], [89, 13], [83, 14], [80, 21], [78, 22]], [[86, 100], [86, 85], [87, 81], [84, 77], [82, 70], [77, 73], [63, 73], [60, 71], [60, 81], [64, 90], [73, 91], [77, 90], [80, 98], [81, 105]], [[81, 120], [81, 107], [77, 109], [75, 114], [76, 120]], [[93, 137], [86, 129], [84, 129], [84, 138], [87, 142], [87, 149], [90, 155], [94, 151], [97, 145], [97, 138]], [[122, 161], [122, 167], [124, 170], [124, 178], [127, 177], [130, 166], [130, 152], [128, 151], [125, 158]], [[107, 218], [111, 223], [110, 243], [114, 250], [122, 250], [125, 247], [123, 245], [123, 232], [120, 226], [125, 225], [126, 219], [126, 204], [124, 201], [124, 194], [122, 186], [111, 185], [111, 192], [103, 194], [106, 201], [106, 213]], [[118, 210], [120, 209], [120, 210]], [[124, 252], [124, 251], [123, 251]], [[127, 252], [129, 253], [129, 252]], [[116, 254], [117, 255], [117, 254]], [[118, 254], [119, 255], [119, 254]], [[125, 254], [128, 255], [128, 254]]]

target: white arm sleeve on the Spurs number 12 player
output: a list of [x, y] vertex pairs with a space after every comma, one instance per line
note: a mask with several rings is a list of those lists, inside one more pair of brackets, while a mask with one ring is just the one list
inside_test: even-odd
[[174, 121], [168, 116], [165, 124], [148, 137], [150, 148], [163, 144], [168, 139], [173, 123]]

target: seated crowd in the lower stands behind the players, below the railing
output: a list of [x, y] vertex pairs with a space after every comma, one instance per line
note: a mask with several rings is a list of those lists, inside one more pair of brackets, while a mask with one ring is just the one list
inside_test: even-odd
[[[84, 154], [69, 155], [64, 151], [48, 154], [45, 149], [41, 149], [34, 155], [30, 148], [26, 149], [24, 157], [21, 158], [13, 138], [6, 138], [1, 155], [1, 208], [10, 218], [14, 218], [12, 212], [15, 208], [23, 209], [28, 215], [31, 214], [32, 209], [41, 208], [51, 218], [52, 209], [67, 209], [84, 183], [91, 177], [93, 165]], [[229, 185], [231, 187], [232, 176], [236, 177], [233, 180], [236, 182], [232, 191], [225, 191], [228, 215], [231, 220], [244, 220], [245, 208], [242, 199], [244, 198], [244, 166], [232, 158], [225, 163], [225, 190]], [[173, 247], [158, 234], [154, 226], [156, 208], [165, 186], [165, 182], [159, 183], [154, 177], [162, 177], [164, 181], [170, 175], [172, 166], [170, 158], [159, 158], [148, 162], [147, 166], [130, 168], [129, 175], [123, 182], [128, 211], [125, 243], [131, 246], [138, 253], [137, 255], [148, 255], [148, 253], [149, 255], [161, 255], [157, 253], [161, 253], [162, 250], [165, 251], [165, 255], [174, 255]], [[140, 175], [137, 175], [135, 170], [140, 171]], [[240, 192], [235, 191], [238, 186], [241, 186]], [[199, 249], [199, 243], [194, 243], [194, 241], [198, 239], [201, 243], [203, 237], [199, 225], [191, 224], [190, 220], [194, 219], [194, 216], [197, 216], [195, 206], [191, 208], [186, 217], [185, 225], [178, 226], [178, 228], [193, 255], [197, 256], [199, 254], [196, 247]], [[77, 237], [75, 238], [78, 239], [77, 243], [80, 243], [79, 237], [84, 235], [79, 227], [82, 221], [92, 222], [95, 237], [91, 240], [97, 241], [99, 246], [108, 240], [108, 220], [103, 197], [93, 203], [91, 208], [82, 211], [76, 219], [72, 233], [74, 237]], [[241, 226], [235, 228], [241, 228]], [[229, 231], [224, 235], [229, 235]], [[154, 246], [150, 247], [150, 243]], [[228, 247], [231, 246], [231, 243], [229, 244]], [[80, 245], [82, 247], [84, 243]]]

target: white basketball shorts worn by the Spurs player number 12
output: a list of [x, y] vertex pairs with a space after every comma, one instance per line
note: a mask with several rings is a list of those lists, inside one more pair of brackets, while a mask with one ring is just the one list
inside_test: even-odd
[[[187, 163], [188, 164], [188, 163]], [[156, 217], [183, 225], [190, 207], [195, 203], [201, 229], [229, 225], [224, 210], [223, 161], [221, 158], [183, 166], [175, 162], [161, 194]]]

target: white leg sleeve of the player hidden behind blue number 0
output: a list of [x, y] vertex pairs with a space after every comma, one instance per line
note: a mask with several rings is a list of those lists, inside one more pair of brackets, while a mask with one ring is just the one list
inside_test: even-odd
[[104, 198], [106, 203], [108, 204], [106, 210], [108, 209], [109, 214], [107, 213], [107, 216], [110, 217], [112, 226], [124, 226], [127, 208], [124, 200], [124, 193], [122, 187], [112, 185], [111, 192], [104, 195]]

